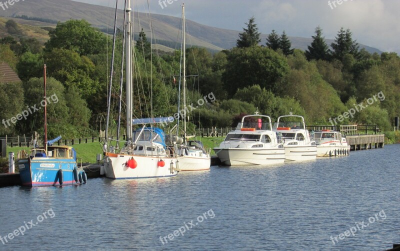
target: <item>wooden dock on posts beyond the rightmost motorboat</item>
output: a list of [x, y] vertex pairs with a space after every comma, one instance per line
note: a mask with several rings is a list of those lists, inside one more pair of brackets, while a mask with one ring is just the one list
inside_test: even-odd
[[382, 148], [384, 145], [384, 134], [372, 135], [346, 135], [347, 144], [351, 150]]

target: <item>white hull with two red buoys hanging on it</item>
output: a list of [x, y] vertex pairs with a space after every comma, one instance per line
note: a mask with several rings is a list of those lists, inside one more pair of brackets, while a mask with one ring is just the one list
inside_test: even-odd
[[[126, 165], [132, 157], [137, 163], [135, 168]], [[161, 159], [165, 163], [162, 167], [158, 166]], [[112, 154], [104, 157], [104, 174], [112, 179], [169, 177], [177, 174], [175, 169], [171, 170], [171, 162], [175, 168], [176, 158]]]

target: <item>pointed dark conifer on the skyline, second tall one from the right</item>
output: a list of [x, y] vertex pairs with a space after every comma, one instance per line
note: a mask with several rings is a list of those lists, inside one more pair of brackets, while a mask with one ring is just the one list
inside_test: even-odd
[[328, 45], [325, 42], [325, 38], [322, 36], [322, 29], [319, 26], [315, 28], [315, 35], [311, 37], [311, 45], [308, 45], [308, 50], [305, 50], [305, 57], [307, 60], [328, 60]]

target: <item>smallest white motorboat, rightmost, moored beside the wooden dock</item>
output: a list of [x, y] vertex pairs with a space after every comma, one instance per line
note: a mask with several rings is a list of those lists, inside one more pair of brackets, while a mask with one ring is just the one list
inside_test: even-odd
[[318, 157], [344, 156], [350, 152], [346, 138], [338, 131], [314, 131], [313, 138], [316, 143]]

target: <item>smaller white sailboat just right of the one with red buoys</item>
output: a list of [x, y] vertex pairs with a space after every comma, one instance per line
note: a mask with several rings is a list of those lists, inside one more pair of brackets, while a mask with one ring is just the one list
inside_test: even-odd
[[[185, 17], [182, 3], [182, 68], [183, 68], [183, 110], [186, 110], [186, 48], [185, 48]], [[208, 170], [211, 158], [199, 140], [189, 140], [186, 136], [186, 116], [183, 116], [183, 143], [177, 144], [177, 160], [181, 171]]]

